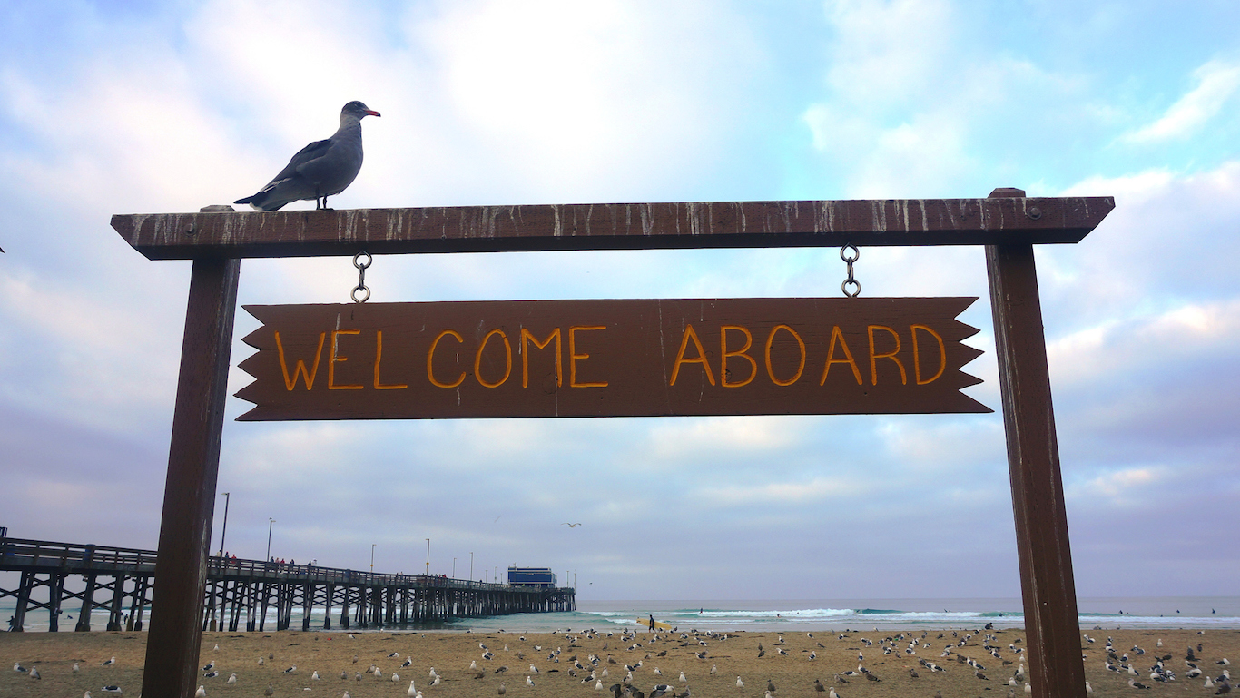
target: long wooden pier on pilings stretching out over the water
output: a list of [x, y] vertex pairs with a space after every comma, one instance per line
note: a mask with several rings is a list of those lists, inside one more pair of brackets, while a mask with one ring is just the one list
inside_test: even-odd
[[[27, 614], [46, 611], [50, 631], [60, 631], [61, 615], [72, 612], [73, 630], [86, 632], [95, 610], [108, 612], [103, 630], [134, 631], [153, 610], [155, 550], [0, 538], [0, 572], [20, 573], [16, 589], [0, 588], [0, 599], [16, 600], [14, 631], [22, 630]], [[324, 630], [350, 630], [572, 611], [577, 599], [572, 588], [211, 557], [202, 606], [202, 630], [237, 632], [269, 630], [270, 610], [272, 630], [289, 630], [298, 609], [300, 630], [310, 630], [311, 610], [322, 611]]]

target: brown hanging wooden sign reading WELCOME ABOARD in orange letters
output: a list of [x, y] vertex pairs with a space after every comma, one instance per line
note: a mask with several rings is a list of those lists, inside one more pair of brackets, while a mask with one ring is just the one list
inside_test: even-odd
[[248, 305], [239, 420], [992, 412], [976, 298]]

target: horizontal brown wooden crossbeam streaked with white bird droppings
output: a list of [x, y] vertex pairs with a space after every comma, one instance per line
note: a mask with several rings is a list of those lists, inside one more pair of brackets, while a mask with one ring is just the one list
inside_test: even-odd
[[1075, 243], [1115, 200], [569, 203], [118, 214], [149, 259], [441, 252]]

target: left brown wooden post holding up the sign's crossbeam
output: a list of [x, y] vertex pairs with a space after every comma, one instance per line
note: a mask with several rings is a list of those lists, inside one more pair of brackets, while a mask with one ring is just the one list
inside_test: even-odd
[[219, 467], [241, 262], [193, 260], [172, 413], [143, 694], [190, 698], [197, 687], [202, 595]]

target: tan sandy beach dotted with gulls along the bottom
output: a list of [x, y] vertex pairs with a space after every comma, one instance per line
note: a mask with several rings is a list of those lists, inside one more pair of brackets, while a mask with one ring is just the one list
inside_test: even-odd
[[[843, 634], [842, 638], [838, 632], [738, 632], [729, 634], [727, 640], [722, 635], [688, 634], [684, 638], [681, 632], [660, 632], [653, 642], [649, 632], [624, 638], [615, 631], [611, 636], [589, 636], [584, 630], [525, 635], [517, 629], [485, 634], [207, 632], [202, 637], [200, 666], [215, 662], [219, 676], [202, 678], [200, 683], [211, 697], [259, 697], [270, 683], [278, 697], [339, 698], [347, 691], [352, 698], [397, 698], [405, 696], [413, 679], [424, 698], [491, 698], [497, 696], [501, 683], [507, 689], [506, 696], [515, 698], [590, 698], [606, 696], [610, 686], [624, 679], [624, 665], [641, 662], [632, 672], [632, 684], [647, 697], [652, 687], [667, 683], [676, 693], [682, 693], [688, 686], [697, 698], [764, 698], [770, 682], [775, 687], [773, 698], [826, 698], [826, 693], [816, 691], [816, 678], [823, 687], [835, 687], [841, 698], [934, 698], [936, 691], [941, 691], [945, 698], [1002, 697], [1008, 694], [1008, 679], [1021, 665], [1021, 655], [1012, 647], [1024, 645], [1024, 632], [1017, 630], [978, 630], [973, 634], [852, 631]], [[992, 636], [988, 641], [987, 634]], [[1204, 634], [1195, 630], [1094, 630], [1085, 635], [1096, 640], [1092, 643], [1083, 640], [1083, 655], [1086, 657], [1086, 678], [1097, 697], [1213, 696], [1215, 688], [1203, 686], [1204, 676], [1218, 677], [1231, 668], [1215, 663], [1224, 657], [1240, 660], [1238, 630]], [[1107, 637], [1114, 640], [1116, 655], [1128, 653], [1137, 677], [1105, 668]], [[888, 646], [894, 643], [892, 653], [883, 653], [884, 638], [890, 638]], [[916, 653], [909, 655], [904, 650], [913, 640], [918, 641]], [[1158, 646], [1159, 640], [1162, 647]], [[942, 656], [949, 643], [961, 641], [966, 643], [950, 647], [952, 653]], [[998, 658], [983, 647], [987, 643], [998, 648]], [[1199, 643], [1202, 648], [1197, 650]], [[492, 658], [482, 658], [481, 645], [490, 650]], [[759, 646], [763, 656], [759, 656]], [[1145, 653], [1137, 655], [1135, 646]], [[1198, 658], [1197, 665], [1205, 672], [1202, 678], [1185, 676], [1189, 647]], [[143, 632], [0, 634], [0, 662], [4, 665], [0, 696], [77, 698], [91, 691], [99, 698], [110, 696], [100, 692], [108, 684], [119, 686], [124, 696], [138, 696], [145, 650], [146, 635]], [[548, 658], [556, 651], [559, 652], [558, 662]], [[697, 652], [703, 651], [707, 657], [698, 658]], [[846, 671], [857, 671], [858, 653], [863, 655], [866, 668], [879, 681], [869, 681], [864, 674], [837, 678]], [[591, 655], [600, 658], [596, 667], [589, 665]], [[975, 660], [983, 668], [975, 671], [957, 661], [957, 655]], [[1176, 673], [1177, 679], [1169, 683], [1151, 681], [1156, 658], [1168, 655], [1163, 663]], [[113, 656], [114, 665], [102, 665]], [[260, 657], [264, 660], [262, 666]], [[584, 671], [574, 668], [573, 657], [585, 667]], [[407, 658], [412, 658], [410, 666], [402, 667]], [[610, 663], [609, 658], [616, 663]], [[944, 671], [930, 671], [919, 660], [934, 662]], [[79, 666], [76, 673], [72, 669], [74, 662]], [[470, 668], [471, 662], [476, 662], [476, 669]], [[37, 667], [42, 678], [36, 681], [29, 672], [14, 671], [14, 663], [27, 669]], [[532, 672], [531, 665], [538, 671]], [[295, 671], [285, 672], [294, 666]], [[368, 672], [372, 666], [382, 672], [381, 677]], [[441, 677], [438, 686], [430, 686], [432, 668]], [[582, 681], [591, 668], [603, 682], [601, 691], [595, 689], [594, 681]], [[712, 673], [712, 668], [717, 671]], [[603, 676], [604, 669], [608, 676]], [[916, 671], [915, 677], [910, 669]], [[314, 679], [315, 672], [319, 679]], [[687, 683], [680, 681], [681, 672], [684, 672]], [[233, 673], [237, 682], [228, 684], [227, 679]], [[399, 677], [396, 682], [393, 673]], [[980, 678], [977, 673], [986, 678]], [[532, 687], [527, 686], [527, 677], [532, 677]], [[737, 686], [737, 677], [744, 682], [743, 688]], [[1128, 678], [1151, 686], [1151, 689], [1133, 689], [1127, 684]], [[1024, 694], [1022, 682], [1018, 682], [1014, 693], [1017, 697]]]

